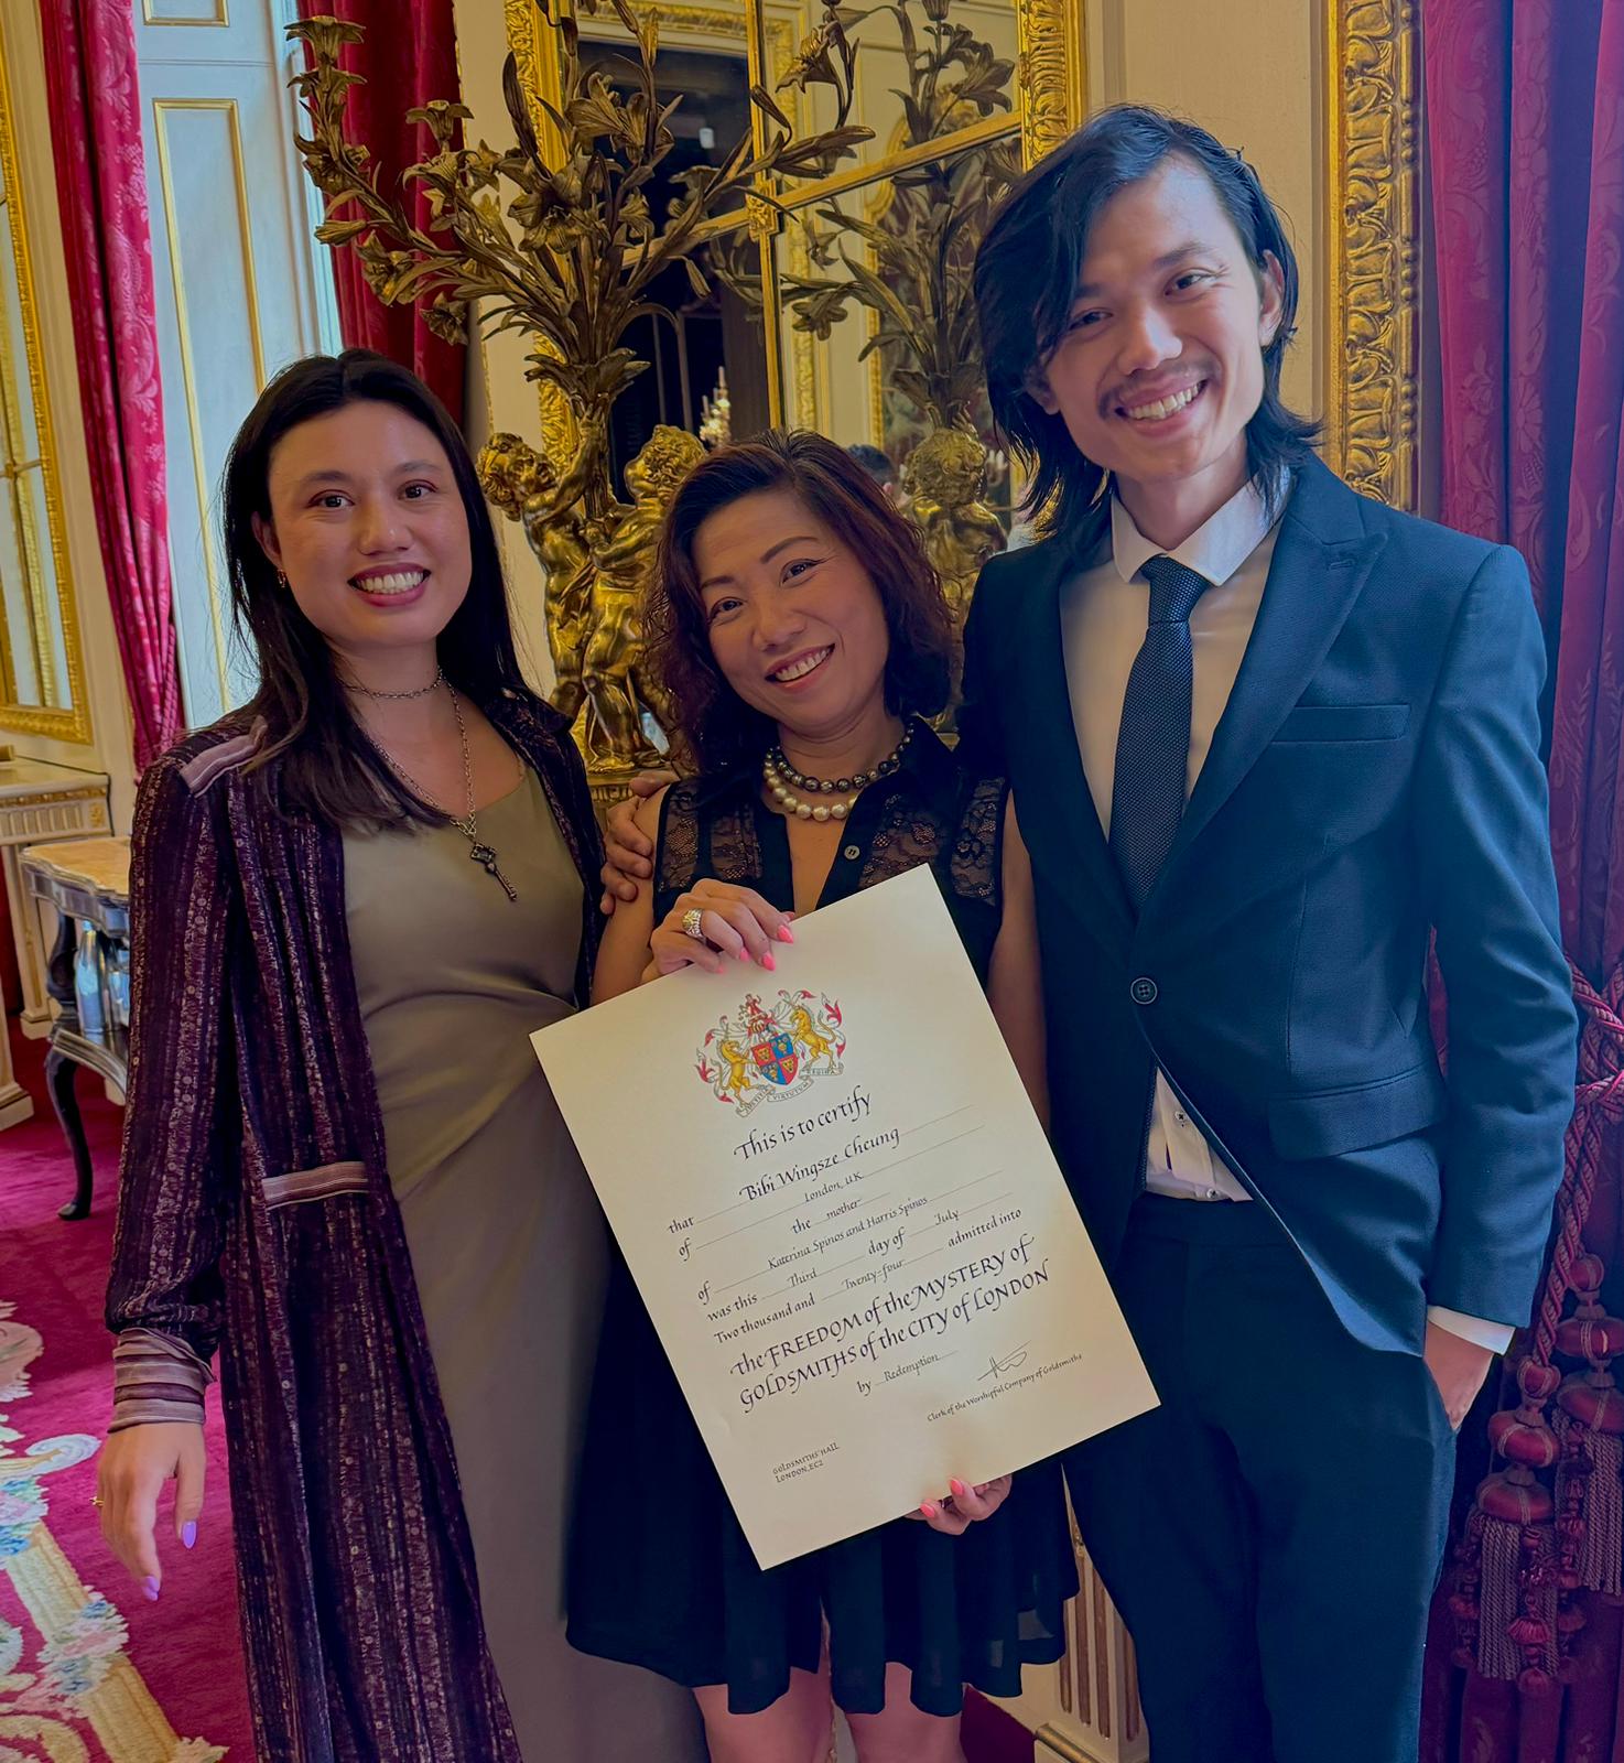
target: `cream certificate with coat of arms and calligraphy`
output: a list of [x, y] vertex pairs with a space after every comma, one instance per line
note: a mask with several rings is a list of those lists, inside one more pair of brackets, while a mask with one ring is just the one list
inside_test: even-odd
[[774, 954], [534, 1035], [762, 1567], [1155, 1407], [931, 871]]

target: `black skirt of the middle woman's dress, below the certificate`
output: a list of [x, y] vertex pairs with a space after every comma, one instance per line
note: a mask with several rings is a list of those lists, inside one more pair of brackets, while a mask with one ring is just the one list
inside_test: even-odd
[[1060, 1463], [1024, 1469], [965, 1536], [898, 1518], [764, 1573], [721, 1488], [670, 1361], [615, 1257], [587, 1421], [570, 1571], [570, 1641], [689, 1687], [726, 1684], [758, 1714], [818, 1668], [834, 1700], [885, 1705], [885, 1666], [913, 1701], [957, 1714], [963, 1685], [1021, 1692], [1023, 1664], [1065, 1650], [1077, 1590]]

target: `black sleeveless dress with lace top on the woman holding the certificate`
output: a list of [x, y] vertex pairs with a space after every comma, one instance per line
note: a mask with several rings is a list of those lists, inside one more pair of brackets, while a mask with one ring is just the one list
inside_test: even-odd
[[[986, 980], [1007, 795], [1002, 779], [973, 776], [929, 728], [915, 728], [901, 767], [869, 785], [845, 822], [820, 904], [929, 864]], [[762, 802], [756, 767], [667, 792], [659, 915], [702, 876], [793, 904], [788, 830]], [[658, 1192], [658, 1151], [647, 1179]], [[1023, 1664], [1065, 1650], [1077, 1562], [1058, 1458], [1023, 1469], [1003, 1506], [961, 1537], [898, 1518], [764, 1573], [619, 1257], [578, 1488], [571, 1645], [679, 1684], [726, 1684], [734, 1714], [758, 1714], [788, 1689], [792, 1671], [816, 1671], [825, 1629], [834, 1700], [859, 1714], [883, 1707], [890, 1661], [910, 1668], [915, 1707], [950, 1715], [966, 1682], [1017, 1696]]]

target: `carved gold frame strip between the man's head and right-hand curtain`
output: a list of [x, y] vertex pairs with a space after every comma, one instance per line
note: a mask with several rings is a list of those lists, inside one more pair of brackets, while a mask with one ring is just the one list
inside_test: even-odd
[[1326, 455], [1412, 508], [1419, 331], [1421, 58], [1414, 0], [1324, 0]]

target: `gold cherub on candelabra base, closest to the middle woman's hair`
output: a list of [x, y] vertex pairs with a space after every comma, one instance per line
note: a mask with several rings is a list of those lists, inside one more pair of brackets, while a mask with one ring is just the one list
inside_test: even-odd
[[677, 485], [704, 457], [697, 435], [658, 423], [626, 465], [631, 506], [617, 510], [614, 531], [587, 524], [594, 577], [582, 682], [589, 705], [587, 762], [598, 774], [658, 762], [644, 732], [644, 709], [667, 730], [672, 726], [665, 695], [644, 658], [642, 601], [665, 511]]

